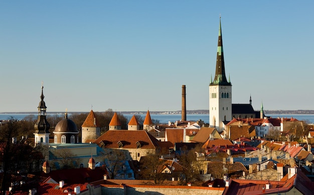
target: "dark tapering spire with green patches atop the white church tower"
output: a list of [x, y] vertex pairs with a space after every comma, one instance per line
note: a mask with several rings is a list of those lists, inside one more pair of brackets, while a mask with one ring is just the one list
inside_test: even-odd
[[219, 33], [218, 33], [218, 48], [217, 48], [217, 60], [216, 60], [216, 73], [214, 81], [211, 85], [231, 85], [230, 80], [227, 80], [225, 73], [225, 61], [224, 50], [222, 45], [222, 33], [221, 33], [221, 17], [219, 18]]

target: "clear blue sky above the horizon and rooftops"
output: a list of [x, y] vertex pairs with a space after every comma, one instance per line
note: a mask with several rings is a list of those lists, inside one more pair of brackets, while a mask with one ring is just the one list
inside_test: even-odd
[[0, 112], [209, 109], [219, 15], [232, 103], [314, 110], [314, 1], [0, 1]]

